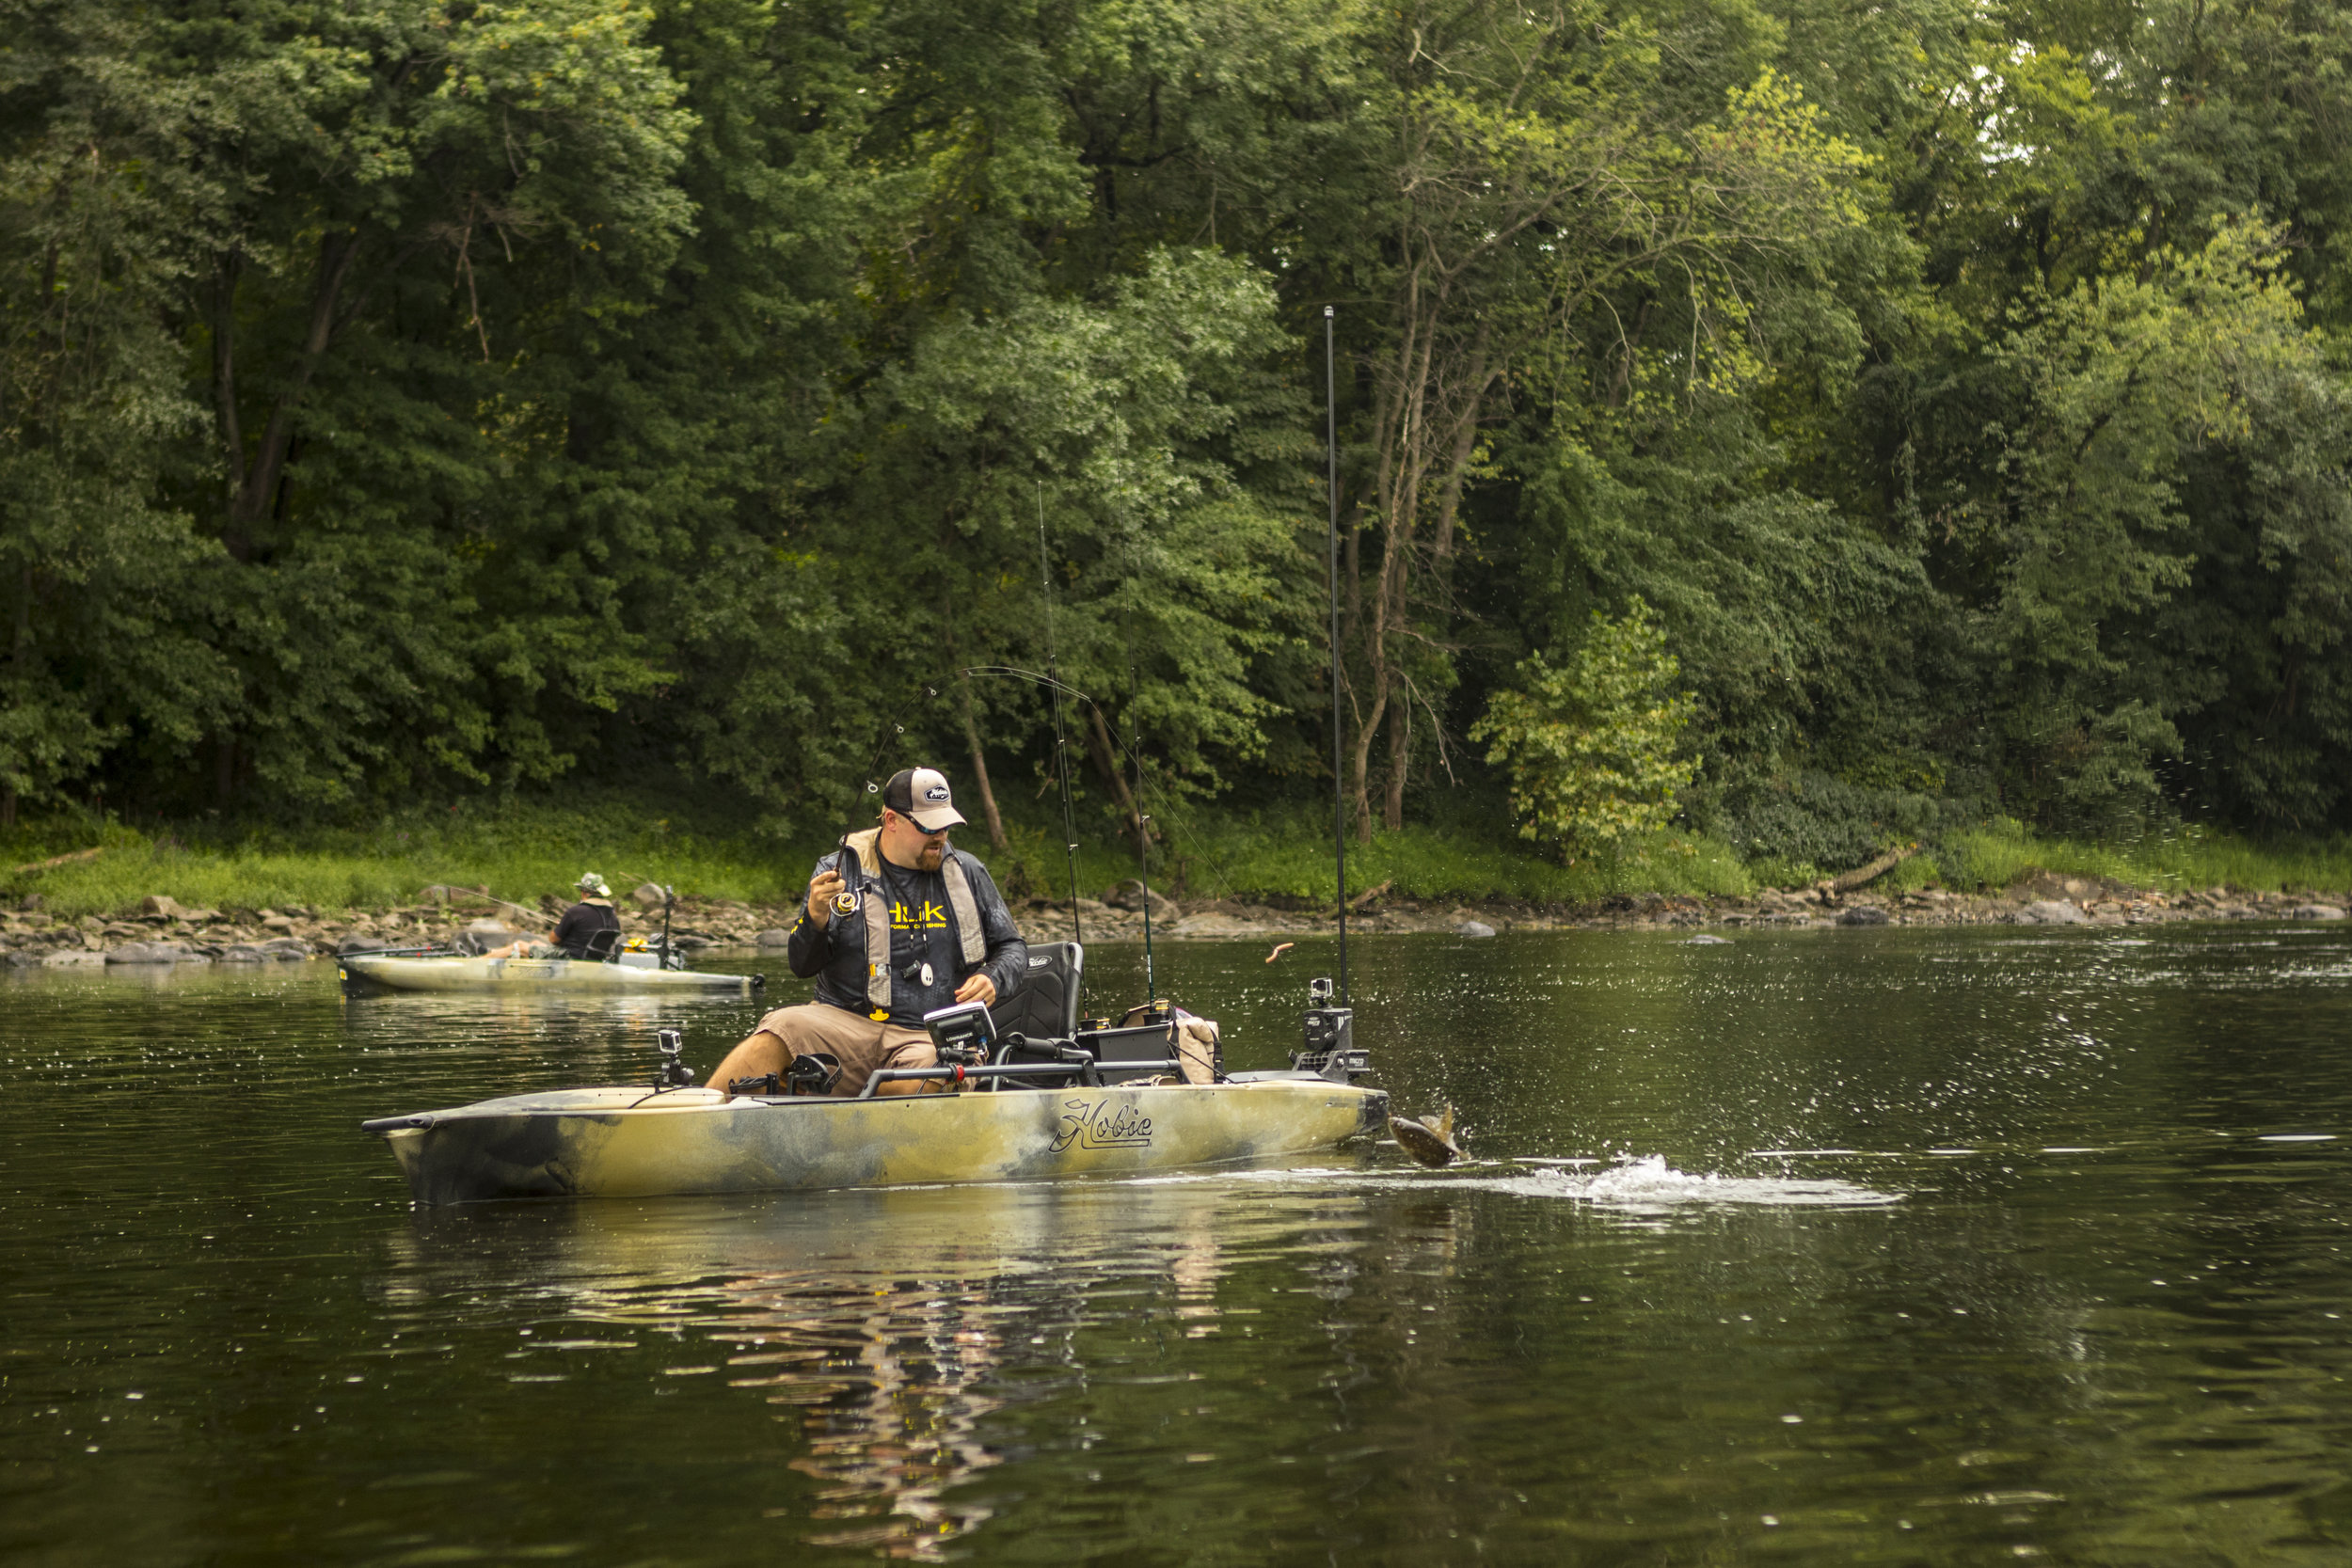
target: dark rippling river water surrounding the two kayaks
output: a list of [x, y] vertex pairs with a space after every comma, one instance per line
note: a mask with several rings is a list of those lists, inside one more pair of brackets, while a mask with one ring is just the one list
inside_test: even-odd
[[[1282, 1065], [1329, 959], [1157, 990]], [[449, 1211], [362, 1117], [757, 1009], [9, 976], [0, 1556], [2352, 1561], [2352, 931], [1352, 959], [1475, 1164]]]

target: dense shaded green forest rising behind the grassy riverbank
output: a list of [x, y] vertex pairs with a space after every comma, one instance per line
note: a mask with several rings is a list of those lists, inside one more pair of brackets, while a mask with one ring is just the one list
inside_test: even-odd
[[1632, 614], [1743, 856], [2340, 832], [2347, 61], [2281, 0], [5, 0], [0, 825], [830, 837], [891, 719], [1040, 816], [1040, 689], [957, 670], [1049, 661], [1096, 823], [1129, 741], [1310, 823], [1331, 306], [1359, 830], [1508, 832], [1468, 733]]

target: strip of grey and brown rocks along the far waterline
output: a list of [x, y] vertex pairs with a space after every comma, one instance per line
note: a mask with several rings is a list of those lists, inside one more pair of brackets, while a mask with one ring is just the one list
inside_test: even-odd
[[[334, 957], [381, 947], [459, 945], [496, 947], [515, 936], [546, 936], [555, 910], [541, 924], [517, 917], [517, 905], [494, 905], [463, 889], [430, 889], [433, 898], [397, 910], [191, 910], [153, 896], [139, 914], [61, 922], [40, 910], [0, 910], [0, 966], [75, 964], [273, 964]], [[1136, 889], [1117, 903], [1077, 900], [1077, 922], [1089, 943], [1143, 940], [1143, 907]], [[553, 900], [543, 900], [553, 903]], [[626, 900], [623, 900], [626, 903]], [[1131, 905], [1131, 907], [1122, 907]], [[2034, 875], [1999, 893], [1837, 893], [1832, 889], [1764, 889], [1755, 898], [1708, 898], [1691, 893], [1625, 893], [1592, 905], [1531, 903], [1423, 903], [1369, 896], [1348, 912], [1355, 933], [1451, 933], [1494, 936], [1503, 931], [1740, 931], [1809, 926], [2140, 926], [2190, 919], [2345, 919], [2352, 893], [2194, 889], [2154, 891], [2107, 882]], [[1030, 898], [1016, 905], [1030, 940], [1065, 940], [1070, 903]], [[734, 900], [680, 900], [670, 931], [680, 947], [781, 947], [793, 905]], [[623, 907], [626, 936], [661, 931], [661, 912]], [[1225, 898], [1162, 898], [1152, 893], [1155, 940], [1202, 938], [1301, 938], [1336, 929], [1329, 905], [1277, 907]]]

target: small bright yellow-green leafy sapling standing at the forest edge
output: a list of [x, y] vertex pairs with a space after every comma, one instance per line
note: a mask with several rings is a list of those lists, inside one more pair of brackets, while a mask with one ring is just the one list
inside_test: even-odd
[[1566, 665], [1543, 654], [1519, 665], [1524, 689], [1496, 691], [1470, 738], [1491, 741], [1486, 762], [1510, 769], [1522, 839], [1573, 860], [1665, 827], [1700, 762], [1675, 755], [1696, 708], [1672, 691], [1679, 672], [1639, 597], [1618, 618], [1592, 611]]

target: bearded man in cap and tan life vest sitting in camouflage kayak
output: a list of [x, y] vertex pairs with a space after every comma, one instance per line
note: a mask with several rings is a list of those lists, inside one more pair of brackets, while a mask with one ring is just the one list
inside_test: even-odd
[[[816, 976], [816, 1001], [760, 1020], [713, 1074], [781, 1077], [795, 1056], [840, 1063], [830, 1093], [854, 1095], [882, 1067], [931, 1067], [922, 1016], [950, 1001], [995, 1006], [1028, 973], [1028, 943], [988, 867], [948, 844], [962, 825], [936, 769], [901, 769], [882, 788], [882, 825], [816, 863], [793, 924], [795, 976]], [[835, 905], [851, 893], [844, 914]], [[884, 1084], [880, 1093], [917, 1093]]]

